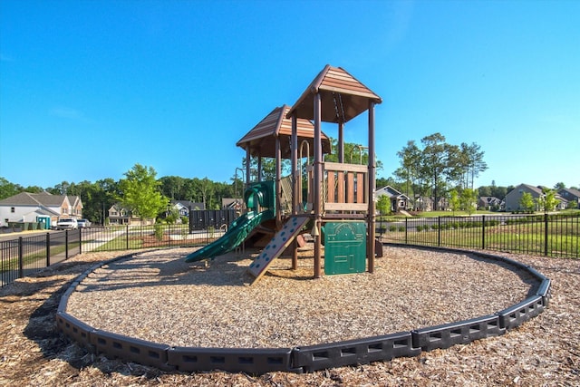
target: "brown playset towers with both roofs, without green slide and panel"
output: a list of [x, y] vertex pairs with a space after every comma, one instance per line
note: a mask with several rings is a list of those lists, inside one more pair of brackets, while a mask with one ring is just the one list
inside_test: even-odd
[[[326, 222], [364, 221], [366, 261], [370, 273], [375, 257], [375, 143], [374, 106], [382, 99], [340, 67], [326, 65], [290, 108], [275, 108], [247, 133], [237, 146], [246, 150], [246, 181], [250, 180], [250, 158], [275, 158], [275, 228], [290, 219], [314, 220], [314, 278], [321, 276], [322, 227]], [[344, 162], [344, 124], [368, 111], [368, 165]], [[331, 152], [322, 122], [338, 125], [338, 162], [324, 161]], [[304, 154], [305, 150], [305, 154]], [[306, 157], [306, 165], [302, 163]], [[312, 158], [312, 162], [311, 162]], [[291, 175], [282, 177], [282, 160], [291, 160]], [[305, 167], [305, 168], [304, 168]], [[307, 196], [303, 198], [303, 174], [307, 174]], [[304, 205], [305, 204], [305, 205]], [[290, 245], [292, 266], [297, 267], [298, 245]]]

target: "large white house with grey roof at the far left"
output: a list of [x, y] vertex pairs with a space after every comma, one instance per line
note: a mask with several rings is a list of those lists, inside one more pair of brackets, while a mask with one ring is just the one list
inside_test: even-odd
[[8, 222], [37, 222], [39, 218], [56, 224], [59, 218], [82, 218], [82, 201], [78, 196], [20, 192], [0, 200], [0, 226]]

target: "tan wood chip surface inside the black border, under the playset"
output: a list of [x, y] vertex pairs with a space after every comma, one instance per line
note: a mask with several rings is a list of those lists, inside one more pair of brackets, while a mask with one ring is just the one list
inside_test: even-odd
[[[312, 246], [311, 244], [307, 246]], [[286, 348], [353, 340], [493, 314], [524, 300], [532, 276], [465, 254], [385, 247], [374, 274], [312, 279], [278, 259], [256, 285], [257, 252], [188, 264], [190, 249], [141, 253], [92, 272], [66, 313], [102, 331], [169, 346]]]

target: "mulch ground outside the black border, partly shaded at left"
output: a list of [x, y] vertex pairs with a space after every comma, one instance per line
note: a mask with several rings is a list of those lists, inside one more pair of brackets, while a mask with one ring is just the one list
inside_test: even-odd
[[[399, 247], [391, 247], [399, 248]], [[87, 353], [56, 330], [61, 295], [73, 278], [119, 253], [91, 253], [0, 290], [0, 385], [578, 385], [580, 262], [514, 256], [552, 279], [549, 307], [503, 336], [414, 358], [309, 374], [161, 372]], [[123, 253], [123, 255], [126, 252]], [[510, 289], [506, 288], [506, 292]]]

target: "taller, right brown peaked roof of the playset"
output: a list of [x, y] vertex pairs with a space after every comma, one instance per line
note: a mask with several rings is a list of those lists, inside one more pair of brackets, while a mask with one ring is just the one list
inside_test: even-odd
[[321, 120], [324, 122], [347, 122], [362, 111], [369, 109], [369, 102], [381, 103], [382, 99], [341, 67], [327, 64], [306, 88], [292, 109], [290, 117], [314, 120], [314, 94], [321, 94]]

